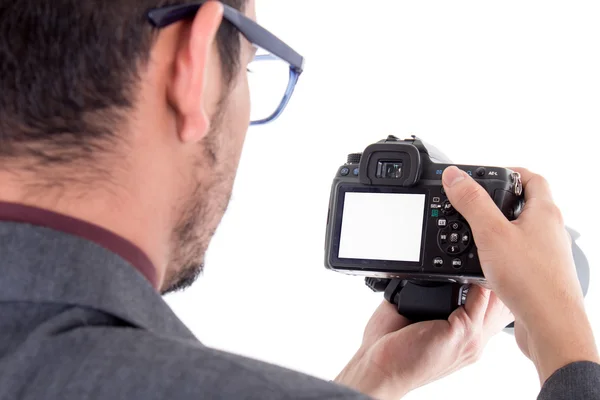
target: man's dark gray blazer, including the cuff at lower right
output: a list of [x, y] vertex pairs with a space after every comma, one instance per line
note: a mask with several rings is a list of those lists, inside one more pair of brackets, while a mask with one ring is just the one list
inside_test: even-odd
[[[136, 269], [84, 239], [0, 222], [0, 271], [1, 400], [365, 398], [203, 346]], [[577, 363], [539, 398], [599, 387], [600, 366]]]

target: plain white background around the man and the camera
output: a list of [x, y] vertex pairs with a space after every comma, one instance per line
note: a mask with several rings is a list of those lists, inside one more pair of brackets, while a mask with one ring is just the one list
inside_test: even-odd
[[[333, 379], [381, 300], [326, 271], [329, 189], [346, 153], [416, 133], [457, 163], [550, 181], [592, 266], [600, 337], [596, 1], [257, 0], [306, 58], [289, 108], [249, 132], [203, 278], [168, 297], [206, 344]], [[409, 399], [534, 399], [532, 364], [500, 334], [483, 359]]]

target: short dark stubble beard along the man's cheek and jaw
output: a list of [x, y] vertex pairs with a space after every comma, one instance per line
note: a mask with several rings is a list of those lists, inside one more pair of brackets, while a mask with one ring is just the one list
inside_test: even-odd
[[179, 217], [171, 233], [171, 256], [167, 266], [162, 294], [187, 289], [204, 270], [204, 255], [231, 198], [234, 167], [221, 155], [222, 132], [227, 96], [219, 102], [211, 118], [211, 128], [203, 140], [204, 152], [195, 161], [195, 171], [211, 171], [207, 182], [201, 183], [192, 174], [190, 191], [178, 207]]

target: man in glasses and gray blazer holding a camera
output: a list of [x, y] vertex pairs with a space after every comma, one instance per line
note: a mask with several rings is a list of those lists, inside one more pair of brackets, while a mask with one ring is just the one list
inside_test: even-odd
[[283, 111], [303, 67], [252, 22], [253, 0], [225, 3], [0, 0], [0, 399], [400, 398], [473, 362], [513, 319], [502, 301], [540, 397], [596, 398], [568, 238], [525, 170], [514, 224], [445, 172], [494, 293], [474, 288], [448, 321], [418, 324], [382, 304], [336, 383], [194, 338], [160, 293], [198, 276], [227, 206], [246, 66], [258, 46], [291, 68], [256, 123]]

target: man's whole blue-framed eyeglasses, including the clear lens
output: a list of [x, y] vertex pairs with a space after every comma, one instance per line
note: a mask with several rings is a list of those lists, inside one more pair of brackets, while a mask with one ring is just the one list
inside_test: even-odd
[[[210, 0], [154, 8], [148, 11], [148, 20], [155, 28], [164, 28], [193, 17], [207, 1]], [[250, 125], [266, 124], [279, 117], [288, 105], [304, 70], [304, 57], [235, 8], [223, 4], [223, 9], [223, 18], [258, 48], [248, 66]]]

